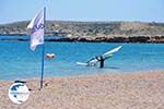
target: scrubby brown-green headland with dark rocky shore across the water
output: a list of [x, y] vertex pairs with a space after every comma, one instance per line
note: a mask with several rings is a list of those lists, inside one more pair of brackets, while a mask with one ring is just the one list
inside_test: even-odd
[[[27, 40], [30, 22], [0, 25], [0, 35], [22, 35]], [[164, 43], [164, 23], [143, 22], [46, 22], [48, 41]], [[4, 39], [3, 39], [4, 40]]]

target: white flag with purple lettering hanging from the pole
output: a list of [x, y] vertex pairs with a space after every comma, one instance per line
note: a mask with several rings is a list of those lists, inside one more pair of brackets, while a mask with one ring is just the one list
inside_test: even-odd
[[31, 49], [34, 51], [37, 45], [44, 44], [44, 10], [36, 14], [31, 21], [27, 28], [31, 28]]

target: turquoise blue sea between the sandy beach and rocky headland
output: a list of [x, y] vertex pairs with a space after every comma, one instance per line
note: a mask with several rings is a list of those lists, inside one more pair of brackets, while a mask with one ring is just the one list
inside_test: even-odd
[[[5, 37], [10, 36], [0, 36], [0, 39]], [[105, 61], [104, 69], [99, 69], [99, 64], [96, 66], [77, 64], [118, 46], [122, 48]], [[164, 44], [46, 41], [46, 53], [55, 53], [56, 57], [45, 58], [45, 77], [164, 70]], [[0, 40], [0, 80], [40, 77], [40, 70], [42, 46], [32, 51], [30, 41]]]

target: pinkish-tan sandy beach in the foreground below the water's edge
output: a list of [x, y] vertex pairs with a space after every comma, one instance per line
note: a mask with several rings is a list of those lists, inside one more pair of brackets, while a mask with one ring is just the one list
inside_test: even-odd
[[8, 97], [13, 82], [0, 81], [0, 109], [164, 109], [164, 71], [134, 74], [28, 80], [27, 101], [15, 105]]

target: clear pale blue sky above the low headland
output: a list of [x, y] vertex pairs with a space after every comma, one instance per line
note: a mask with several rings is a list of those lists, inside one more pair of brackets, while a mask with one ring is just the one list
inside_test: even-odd
[[31, 20], [164, 22], [164, 0], [0, 0], [0, 24]]

